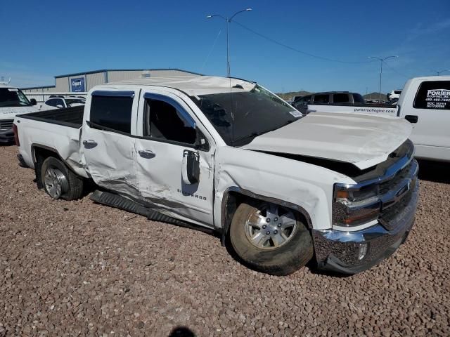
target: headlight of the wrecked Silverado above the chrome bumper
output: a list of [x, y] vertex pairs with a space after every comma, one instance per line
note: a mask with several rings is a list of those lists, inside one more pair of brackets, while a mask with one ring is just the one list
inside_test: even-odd
[[333, 225], [352, 227], [376, 220], [381, 206], [378, 192], [378, 185], [356, 187], [335, 184]]

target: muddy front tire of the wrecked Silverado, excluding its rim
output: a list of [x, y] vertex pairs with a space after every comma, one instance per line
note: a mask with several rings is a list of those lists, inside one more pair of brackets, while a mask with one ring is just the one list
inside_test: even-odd
[[245, 234], [246, 221], [267, 204], [259, 201], [242, 203], [236, 209], [230, 227], [230, 242], [243, 262], [254, 270], [271, 275], [289, 275], [306, 265], [314, 256], [311, 233], [296, 212], [297, 225], [291, 239], [282, 246], [266, 250], [254, 246]]

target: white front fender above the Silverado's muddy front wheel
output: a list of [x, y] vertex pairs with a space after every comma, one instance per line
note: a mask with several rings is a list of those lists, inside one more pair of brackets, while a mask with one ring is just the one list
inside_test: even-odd
[[214, 225], [222, 227], [223, 201], [229, 190], [245, 190], [285, 201], [303, 209], [316, 230], [331, 227], [331, 202], [335, 183], [354, 183], [351, 178], [294, 159], [272, 154], [219, 147], [214, 169]]

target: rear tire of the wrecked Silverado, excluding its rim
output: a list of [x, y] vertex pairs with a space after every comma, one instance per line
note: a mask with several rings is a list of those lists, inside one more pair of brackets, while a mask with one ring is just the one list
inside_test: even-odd
[[62, 192], [60, 197], [53, 199], [65, 199], [65, 200], [76, 200], [82, 197], [83, 194], [83, 179], [77, 176], [75, 173], [70, 171], [68, 166], [66, 166], [63, 161], [60, 161], [59, 159], [56, 159], [55, 157], [48, 157], [44, 160], [41, 166], [41, 183], [44, 186], [44, 190], [47, 194], [49, 194], [50, 197], [51, 194], [47, 190], [46, 184], [45, 184], [45, 174], [47, 169], [58, 169], [63, 175], [65, 176], [65, 179], [67, 180], [68, 187], [66, 190]]

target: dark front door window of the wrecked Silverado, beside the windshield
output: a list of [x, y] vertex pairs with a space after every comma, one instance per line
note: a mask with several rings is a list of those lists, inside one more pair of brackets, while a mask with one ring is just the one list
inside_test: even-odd
[[195, 128], [179, 109], [163, 100], [146, 98], [144, 136], [193, 145]]

